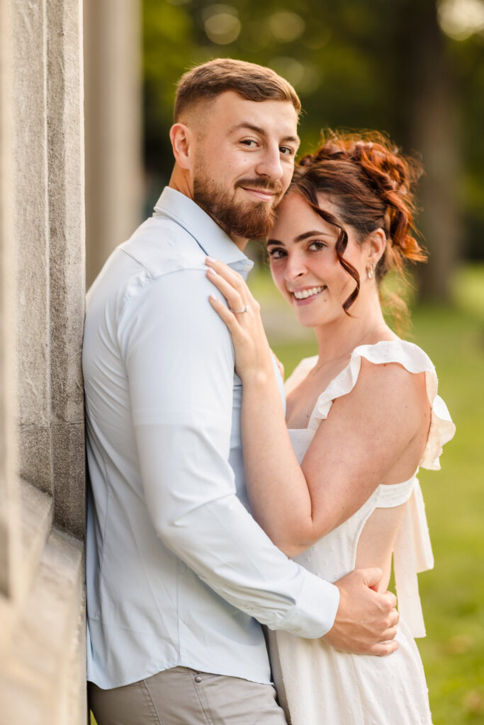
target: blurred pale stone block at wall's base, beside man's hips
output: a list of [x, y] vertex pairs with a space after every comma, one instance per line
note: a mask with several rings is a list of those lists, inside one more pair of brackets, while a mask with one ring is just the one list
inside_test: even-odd
[[[55, 529], [22, 602], [9, 656], [0, 662], [1, 723], [84, 725], [85, 709], [70, 711], [78, 687], [73, 641], [82, 616], [83, 546]], [[83, 682], [83, 678], [82, 678]]]

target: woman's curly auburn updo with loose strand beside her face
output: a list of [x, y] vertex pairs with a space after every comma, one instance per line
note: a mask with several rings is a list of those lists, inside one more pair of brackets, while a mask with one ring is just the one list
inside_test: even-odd
[[[388, 270], [403, 273], [406, 260], [427, 259], [414, 233], [413, 186], [422, 174], [415, 159], [405, 157], [390, 140], [377, 131], [323, 134], [314, 154], [300, 159], [289, 191], [308, 200], [316, 213], [340, 229], [336, 252], [343, 268], [356, 281], [356, 289], [343, 308], [353, 305], [360, 289], [357, 270], [344, 258], [348, 244], [345, 224], [358, 231], [363, 240], [381, 228], [387, 247], [375, 270], [380, 283]], [[328, 194], [337, 207], [337, 216], [321, 209], [318, 194]]]

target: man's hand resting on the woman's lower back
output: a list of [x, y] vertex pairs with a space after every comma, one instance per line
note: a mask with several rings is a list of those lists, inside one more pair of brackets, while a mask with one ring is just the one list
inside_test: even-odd
[[335, 581], [340, 590], [340, 605], [335, 624], [324, 641], [337, 650], [356, 655], [390, 655], [398, 648], [397, 600], [392, 592], [378, 594], [375, 587], [381, 569], [356, 569]]

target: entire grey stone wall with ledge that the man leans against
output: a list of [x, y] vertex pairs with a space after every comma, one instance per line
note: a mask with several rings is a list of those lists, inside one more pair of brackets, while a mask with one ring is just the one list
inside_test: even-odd
[[0, 0], [0, 724], [86, 723], [80, 0]]

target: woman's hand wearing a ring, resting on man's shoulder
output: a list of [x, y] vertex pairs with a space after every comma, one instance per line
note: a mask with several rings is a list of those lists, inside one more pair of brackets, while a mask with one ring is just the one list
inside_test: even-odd
[[223, 262], [207, 257], [207, 276], [223, 294], [229, 309], [215, 295], [210, 305], [229, 328], [235, 352], [235, 369], [243, 381], [249, 376], [274, 375], [272, 353], [261, 320], [261, 307], [247, 284]]

